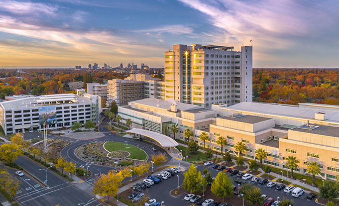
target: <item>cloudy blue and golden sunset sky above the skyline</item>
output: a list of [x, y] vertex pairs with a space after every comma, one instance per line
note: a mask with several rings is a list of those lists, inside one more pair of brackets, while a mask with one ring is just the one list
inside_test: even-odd
[[253, 67], [339, 67], [337, 0], [1, 0], [0, 67], [163, 67], [174, 44], [253, 46]]

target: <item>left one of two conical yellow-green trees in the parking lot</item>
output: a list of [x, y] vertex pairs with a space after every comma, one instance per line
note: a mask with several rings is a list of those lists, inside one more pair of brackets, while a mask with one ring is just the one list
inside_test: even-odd
[[200, 192], [202, 189], [201, 182], [202, 182], [202, 175], [200, 171], [198, 172], [194, 164], [191, 164], [188, 170], [184, 173], [184, 181], [182, 184], [182, 188], [189, 190], [191, 193]]

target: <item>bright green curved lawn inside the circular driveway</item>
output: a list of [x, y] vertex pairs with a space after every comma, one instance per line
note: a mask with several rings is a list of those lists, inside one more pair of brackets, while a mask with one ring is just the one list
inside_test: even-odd
[[106, 142], [104, 144], [104, 148], [111, 152], [111, 151], [127, 151], [131, 155], [128, 156], [128, 158], [131, 159], [137, 159], [137, 160], [146, 160], [147, 159], [147, 154], [144, 152], [144, 150], [130, 145], [130, 144], [125, 144], [121, 142]]

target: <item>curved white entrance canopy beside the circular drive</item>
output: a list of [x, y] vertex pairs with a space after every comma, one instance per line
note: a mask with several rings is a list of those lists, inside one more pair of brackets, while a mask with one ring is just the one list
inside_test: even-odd
[[170, 137], [167, 137], [166, 135], [149, 131], [149, 130], [143, 130], [138, 128], [133, 128], [132, 130], [127, 131], [128, 133], [134, 133], [138, 135], [144, 135], [146, 137], [149, 137], [155, 141], [157, 141], [162, 147], [176, 147], [179, 144], [173, 140]]

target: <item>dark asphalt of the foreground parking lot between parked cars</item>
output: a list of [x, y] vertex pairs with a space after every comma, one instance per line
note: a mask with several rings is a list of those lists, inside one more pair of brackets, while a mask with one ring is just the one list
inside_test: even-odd
[[[202, 171], [207, 168], [212, 177], [215, 177], [218, 172], [220, 172], [217, 169], [213, 169], [212, 165], [210, 166], [196, 166], [197, 170], [202, 173]], [[149, 196], [150, 198], [155, 198], [157, 201], [161, 202], [164, 201], [164, 204], [166, 206], [175, 206], [175, 205], [190, 205], [191, 202], [184, 200], [185, 195], [181, 195], [179, 197], [173, 197], [170, 194], [170, 191], [176, 187], [178, 187], [178, 177], [179, 176], [179, 184], [182, 184], [183, 181], [183, 172], [180, 172], [178, 174], [175, 174], [174, 176], [168, 178], [167, 180], [163, 180], [158, 184], [152, 185], [150, 188], [145, 188], [141, 192], [145, 193], [146, 196]], [[230, 176], [230, 175], [229, 175]], [[237, 179], [237, 175], [231, 176], [231, 178], [234, 180]], [[247, 180], [246, 182], [251, 183], [251, 179]], [[237, 183], [234, 182], [235, 186], [238, 186]], [[314, 200], [307, 200], [306, 195], [307, 193], [302, 194], [300, 197], [295, 198], [292, 197], [291, 194], [286, 194], [284, 191], [279, 191], [274, 188], [268, 188], [266, 184], [261, 185], [259, 183], [255, 183], [255, 185], [259, 186], [261, 188], [261, 191], [263, 194], [266, 194], [268, 197], [273, 197], [274, 200], [277, 200], [277, 197], [279, 197], [280, 200], [282, 200], [284, 197], [293, 199], [295, 206], [304, 206], [304, 205], [318, 205]], [[132, 193], [132, 190], [131, 190]], [[234, 198], [238, 198], [236, 195]], [[227, 202], [227, 201], [226, 201]]]

